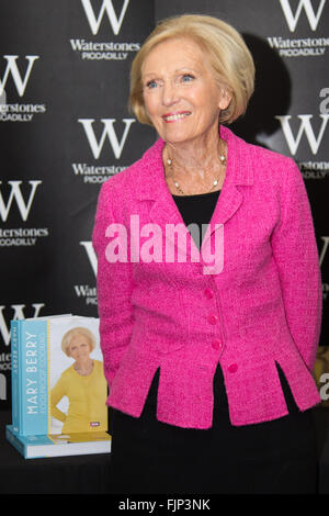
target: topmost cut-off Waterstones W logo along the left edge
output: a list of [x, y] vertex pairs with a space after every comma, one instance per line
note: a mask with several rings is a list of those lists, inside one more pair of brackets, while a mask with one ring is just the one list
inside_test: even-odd
[[[25, 56], [27, 64], [25, 70], [23, 71], [23, 65], [21, 65], [22, 59], [20, 56], [3, 56], [3, 59], [7, 63], [2, 78], [0, 77], [0, 122], [31, 122], [35, 114], [46, 112], [46, 106], [43, 103], [8, 103], [5, 99], [4, 88], [8, 86], [10, 80], [12, 80], [19, 97], [22, 98], [25, 94], [25, 90], [32, 75], [32, 69], [34, 67], [35, 60], [38, 58], [39, 56]], [[20, 67], [18, 59], [20, 59]]]

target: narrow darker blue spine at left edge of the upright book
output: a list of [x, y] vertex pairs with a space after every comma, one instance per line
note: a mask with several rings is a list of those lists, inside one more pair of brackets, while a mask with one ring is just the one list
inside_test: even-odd
[[14, 431], [19, 433], [21, 428], [20, 420], [20, 325], [19, 321], [11, 321], [11, 406], [12, 406], [12, 426]]

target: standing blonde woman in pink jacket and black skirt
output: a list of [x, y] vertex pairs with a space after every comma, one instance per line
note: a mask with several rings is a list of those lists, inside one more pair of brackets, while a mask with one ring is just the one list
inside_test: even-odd
[[316, 489], [318, 251], [294, 161], [224, 125], [253, 77], [206, 15], [164, 20], [133, 63], [159, 139], [103, 184], [93, 232], [113, 492]]

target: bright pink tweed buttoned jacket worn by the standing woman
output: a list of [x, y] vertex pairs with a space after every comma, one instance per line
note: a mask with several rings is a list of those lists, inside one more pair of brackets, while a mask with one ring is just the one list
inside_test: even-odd
[[[302, 175], [291, 158], [247, 144], [224, 126], [220, 136], [228, 144], [227, 172], [202, 243], [202, 249], [213, 246], [224, 228], [220, 270], [205, 273], [202, 249], [192, 259], [196, 246], [164, 181], [162, 139], [104, 182], [93, 229], [107, 404], [140, 416], [160, 368], [157, 418], [185, 428], [212, 426], [218, 362], [235, 426], [287, 414], [275, 362], [300, 411], [320, 402], [313, 368], [321, 281]], [[135, 240], [132, 215], [145, 232]], [[155, 225], [164, 249], [168, 224], [183, 225], [186, 259], [136, 258]], [[128, 259], [122, 253], [114, 261], [111, 243], [122, 227]]]

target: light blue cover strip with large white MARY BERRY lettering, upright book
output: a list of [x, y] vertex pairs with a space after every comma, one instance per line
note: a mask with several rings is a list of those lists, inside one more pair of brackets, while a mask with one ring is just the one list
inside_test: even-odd
[[47, 321], [21, 321], [22, 431], [48, 433]]

